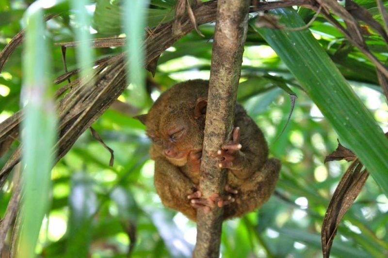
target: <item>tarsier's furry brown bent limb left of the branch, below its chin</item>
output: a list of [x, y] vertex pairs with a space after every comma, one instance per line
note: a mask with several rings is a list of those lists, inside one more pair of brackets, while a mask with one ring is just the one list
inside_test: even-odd
[[196, 220], [196, 210], [190, 205], [188, 195], [196, 191], [194, 183], [179, 169], [162, 157], [155, 159], [155, 188], [162, 203], [171, 209]]

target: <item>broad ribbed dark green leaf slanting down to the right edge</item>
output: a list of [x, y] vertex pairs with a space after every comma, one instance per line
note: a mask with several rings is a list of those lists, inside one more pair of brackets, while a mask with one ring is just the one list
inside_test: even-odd
[[[278, 9], [273, 13], [280, 15], [280, 22], [289, 27], [305, 24], [293, 9]], [[250, 25], [286, 63], [341, 141], [356, 153], [388, 194], [388, 140], [309, 30], [259, 29], [254, 20]]]

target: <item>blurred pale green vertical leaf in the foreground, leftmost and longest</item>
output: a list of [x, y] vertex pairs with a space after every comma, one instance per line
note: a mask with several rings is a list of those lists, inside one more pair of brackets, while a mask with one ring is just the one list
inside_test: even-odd
[[23, 63], [24, 120], [22, 121], [23, 206], [18, 257], [34, 257], [35, 244], [49, 203], [50, 171], [56, 136], [54, 103], [47, 76], [48, 48], [42, 10], [32, 4], [27, 12]]

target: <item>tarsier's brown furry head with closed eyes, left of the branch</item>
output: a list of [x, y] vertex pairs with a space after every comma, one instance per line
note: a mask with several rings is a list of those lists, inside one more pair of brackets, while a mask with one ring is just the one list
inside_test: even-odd
[[190, 152], [202, 149], [207, 83], [197, 82], [199, 91], [178, 84], [164, 92], [148, 114], [135, 117], [146, 125], [153, 141], [151, 158], [162, 155], [172, 164], [184, 166]]

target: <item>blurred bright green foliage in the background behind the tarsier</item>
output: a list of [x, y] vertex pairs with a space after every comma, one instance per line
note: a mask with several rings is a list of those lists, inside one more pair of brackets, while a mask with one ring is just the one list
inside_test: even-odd
[[[356, 2], [382, 22], [375, 1]], [[24, 28], [23, 15], [31, 3], [28, 0], [0, 0], [1, 49]], [[151, 0], [150, 3], [145, 21], [149, 28], [173, 18], [174, 0]], [[67, 1], [48, 7], [47, 13], [61, 12], [46, 23], [44, 32], [50, 54], [50, 68], [45, 72], [49, 77], [57, 77], [64, 74], [64, 66], [61, 47], [55, 43], [78, 39], [77, 30], [82, 23], [77, 19], [78, 9]], [[119, 17], [123, 8], [120, 1], [114, 0], [89, 3], [85, 13], [92, 22], [91, 37], [123, 36], [123, 31], [133, 31], [130, 28], [124, 30], [121, 25]], [[314, 14], [303, 8], [297, 11], [305, 22]], [[369, 48], [385, 62], [387, 45], [368, 26], [364, 27]], [[129, 246], [133, 245], [130, 249], [132, 257], [191, 256], [195, 224], [162, 206], [153, 187], [153, 161], [148, 156], [150, 142], [145, 137], [144, 127], [131, 116], [145, 113], [162, 91], [179, 81], [209, 78], [214, 24], [202, 25], [199, 29], [205, 37], [194, 31], [181, 38], [162, 54], [155, 77], [146, 74], [143, 91], [136, 89], [138, 84], [130, 85], [118, 98], [120, 105], [113, 105], [93, 124], [105, 144], [114, 151], [113, 167], [109, 166], [110, 153], [89, 131], [55, 165], [51, 172], [51, 190], [47, 193], [50, 208], [44, 216], [36, 246], [38, 254], [48, 257], [65, 254], [125, 257]], [[387, 100], [371, 61], [323, 17], [318, 16], [309, 30], [375, 121], [387, 131]], [[94, 48], [94, 59], [117, 55], [123, 52], [123, 48]], [[23, 51], [26, 50], [17, 48], [0, 74], [0, 121], [20, 108], [20, 92], [25, 80], [22, 76], [26, 73], [25, 70], [22, 73], [21, 66], [25, 58]], [[68, 48], [66, 63], [69, 71], [80, 66], [76, 60], [75, 49]], [[36, 65], [39, 66], [41, 61], [37, 57]], [[314, 68], [321, 71], [319, 66]], [[330, 79], [324, 76], [328, 75], [323, 75], [323, 81]], [[63, 85], [65, 82], [50, 87], [57, 89]], [[284, 89], [291, 89], [298, 99], [290, 123], [276, 140], [290, 112], [290, 98]], [[339, 136], [302, 89], [275, 51], [250, 28], [238, 101], [264, 131], [271, 155], [279, 158], [283, 167], [276, 194], [269, 202], [257, 212], [224, 223], [223, 257], [321, 256], [323, 216], [348, 164], [345, 161], [323, 163], [325, 156], [336, 149]], [[133, 97], [134, 92], [139, 91], [144, 92], [141, 96], [144, 100], [134, 102], [139, 99], [137, 95]], [[372, 138], [373, 135], [366, 137]], [[1, 167], [19, 143], [15, 141], [11, 150], [1, 157]], [[13, 189], [13, 183], [7, 181], [0, 193], [1, 217]], [[371, 177], [339, 225], [333, 257], [387, 255], [387, 212], [388, 199]], [[10, 242], [11, 234], [8, 234], [6, 243]], [[3, 252], [6, 254], [7, 250]]]

